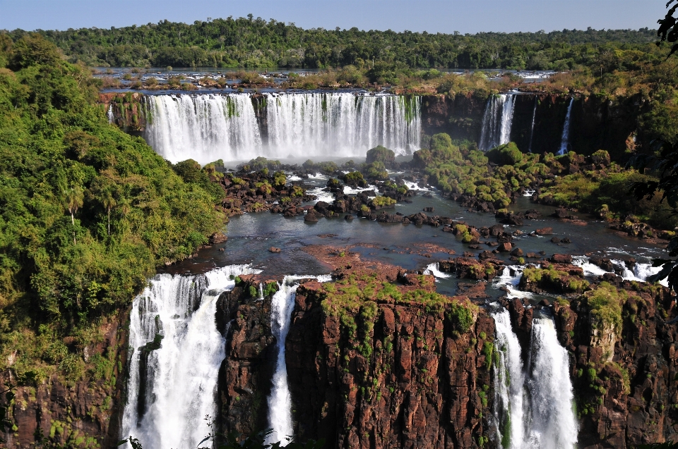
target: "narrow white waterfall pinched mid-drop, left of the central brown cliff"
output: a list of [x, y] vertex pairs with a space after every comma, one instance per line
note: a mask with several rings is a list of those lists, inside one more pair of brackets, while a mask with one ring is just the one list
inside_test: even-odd
[[292, 436], [292, 395], [287, 386], [287, 365], [285, 364], [285, 339], [290, 331], [290, 319], [295, 308], [295, 295], [299, 286], [295, 281], [303, 278], [316, 278], [318, 281], [331, 281], [331, 276], [285, 276], [278, 292], [273, 295], [270, 305], [270, 328], [278, 347], [278, 358], [273, 373], [273, 388], [268, 397], [268, 426], [273, 433], [268, 443], [285, 441]]

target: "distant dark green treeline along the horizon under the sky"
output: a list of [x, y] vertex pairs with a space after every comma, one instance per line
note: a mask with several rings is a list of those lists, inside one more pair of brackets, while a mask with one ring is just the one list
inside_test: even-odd
[[[115, 28], [43, 31], [71, 62], [117, 67], [217, 68], [369, 68], [381, 61], [410, 68], [497, 68], [568, 70], [622, 69], [617, 51], [635, 59], [657, 59], [655, 30], [563, 30], [554, 32], [484, 32], [476, 35], [427, 32], [304, 30], [261, 18], [232, 17], [192, 25], [159, 23]], [[23, 30], [8, 32], [16, 40]], [[615, 66], [615, 64], [617, 66]]]

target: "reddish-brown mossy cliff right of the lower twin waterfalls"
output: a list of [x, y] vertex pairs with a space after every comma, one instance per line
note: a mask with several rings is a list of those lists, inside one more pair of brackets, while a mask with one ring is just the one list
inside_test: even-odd
[[[592, 285], [593, 290], [572, 302], [557, 300], [551, 306], [559, 341], [570, 354], [578, 447], [631, 448], [639, 443], [676, 441], [678, 330], [675, 324], [666, 323], [676, 313], [675, 297], [660, 286], [607, 278], [612, 283], [600, 285], [614, 303], [597, 307], [600, 297], [592, 291], [601, 287]], [[525, 309], [518, 299], [506, 307], [524, 346], [533, 309]], [[613, 314], [622, 321], [615, 323]]]

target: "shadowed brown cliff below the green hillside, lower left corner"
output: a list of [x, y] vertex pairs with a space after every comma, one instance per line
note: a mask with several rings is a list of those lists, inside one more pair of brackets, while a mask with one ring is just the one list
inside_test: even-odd
[[[47, 379], [23, 379], [8, 407], [14, 423], [0, 447], [34, 448], [42, 433], [51, 443], [73, 448], [111, 448], [119, 441], [126, 390], [127, 314], [100, 329], [102, 340], [85, 348], [88, 359], [102, 357], [101, 379], [66, 381], [52, 374]], [[2, 383], [16, 385], [13, 371], [2, 373]]]

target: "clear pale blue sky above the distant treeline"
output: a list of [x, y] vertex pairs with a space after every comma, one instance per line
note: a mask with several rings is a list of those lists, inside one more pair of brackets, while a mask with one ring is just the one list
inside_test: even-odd
[[655, 28], [666, 0], [0, 0], [0, 29], [254, 17], [304, 28], [475, 33]]

